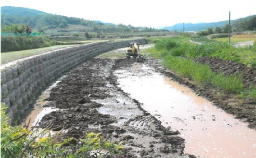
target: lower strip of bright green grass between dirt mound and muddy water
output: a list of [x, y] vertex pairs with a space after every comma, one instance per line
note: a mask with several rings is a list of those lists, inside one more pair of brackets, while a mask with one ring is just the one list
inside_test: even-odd
[[209, 66], [195, 63], [190, 59], [183, 57], [173, 57], [167, 55], [163, 58], [163, 64], [174, 70], [175, 72], [187, 78], [192, 78], [198, 85], [213, 84], [214, 86], [223, 89], [226, 92], [239, 94], [244, 90], [241, 77], [234, 75], [215, 74]]

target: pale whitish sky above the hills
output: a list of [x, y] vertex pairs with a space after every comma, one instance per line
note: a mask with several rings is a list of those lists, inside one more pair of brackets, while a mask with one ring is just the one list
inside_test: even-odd
[[1, 0], [0, 6], [152, 28], [224, 21], [229, 11], [231, 20], [256, 14], [256, 0]]

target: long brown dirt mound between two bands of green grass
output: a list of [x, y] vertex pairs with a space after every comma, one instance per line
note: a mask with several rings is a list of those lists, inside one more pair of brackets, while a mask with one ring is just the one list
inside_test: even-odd
[[250, 85], [256, 86], [256, 68], [247, 67], [242, 63], [237, 63], [231, 60], [222, 60], [218, 57], [199, 57], [194, 61], [207, 64], [212, 71], [223, 73], [224, 75], [240, 74], [243, 78], [245, 87]]

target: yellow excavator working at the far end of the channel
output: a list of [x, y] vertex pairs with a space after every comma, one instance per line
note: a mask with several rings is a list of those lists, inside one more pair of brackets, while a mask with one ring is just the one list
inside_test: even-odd
[[136, 62], [138, 63], [144, 62], [143, 56], [140, 55], [139, 43], [130, 43], [130, 46], [126, 50], [126, 57], [136, 58]]

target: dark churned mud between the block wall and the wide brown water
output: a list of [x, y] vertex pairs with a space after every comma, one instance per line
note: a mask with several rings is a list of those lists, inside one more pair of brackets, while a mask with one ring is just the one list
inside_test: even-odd
[[115, 158], [194, 157], [183, 153], [178, 131], [162, 126], [116, 86], [113, 70], [131, 63], [91, 59], [78, 66], [52, 89], [47, 106], [60, 110], [45, 115], [40, 127], [51, 122], [54, 130], [67, 129], [65, 137], [76, 139], [84, 132], [101, 132], [110, 141], [123, 142], [123, 154]]

